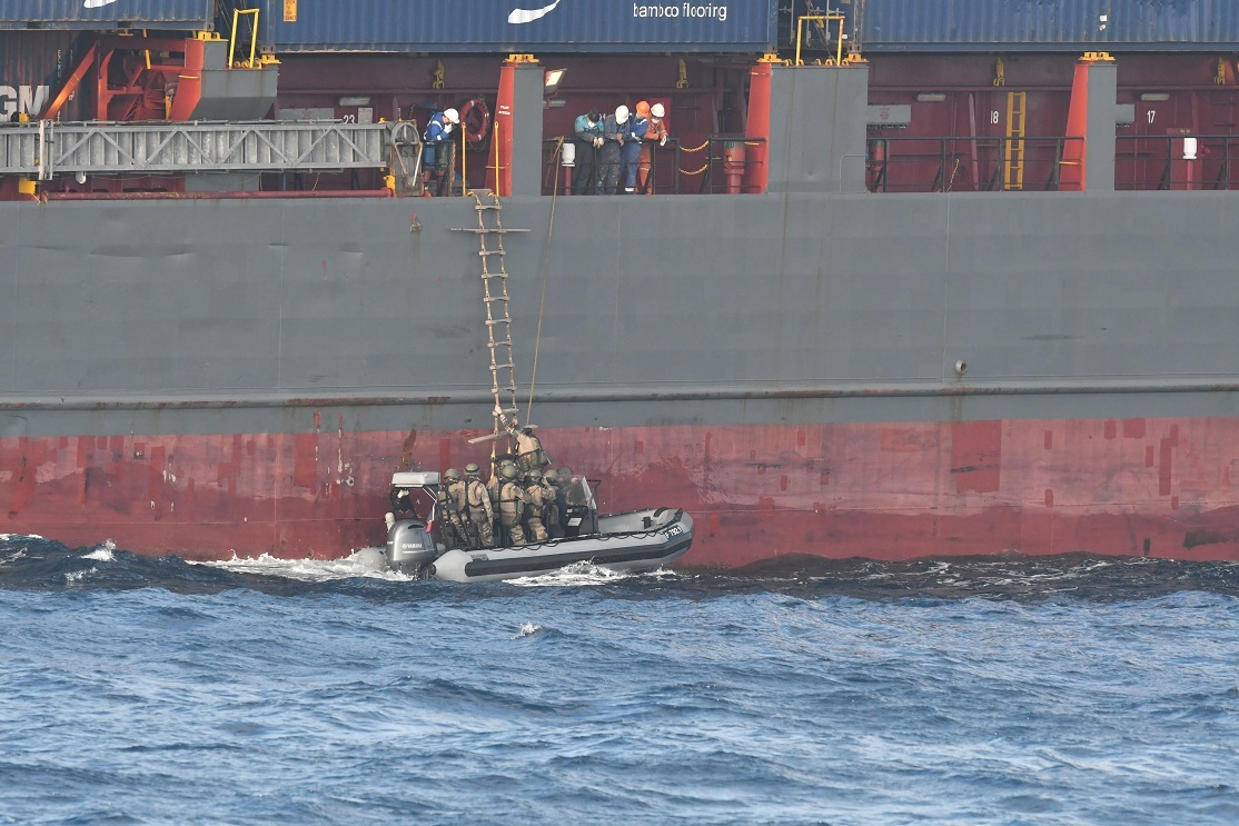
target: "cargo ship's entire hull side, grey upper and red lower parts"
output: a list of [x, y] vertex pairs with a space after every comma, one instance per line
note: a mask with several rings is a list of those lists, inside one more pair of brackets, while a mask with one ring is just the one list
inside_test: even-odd
[[[693, 514], [683, 566], [1239, 559], [1227, 215], [1199, 192], [504, 199], [530, 230], [506, 240], [517, 380], [603, 510]], [[342, 556], [380, 544], [393, 471], [484, 459], [471, 199], [0, 225], [9, 533]]]

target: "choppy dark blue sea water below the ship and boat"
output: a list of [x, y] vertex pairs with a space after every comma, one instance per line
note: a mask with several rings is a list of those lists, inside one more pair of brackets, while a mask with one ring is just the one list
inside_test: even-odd
[[1239, 822], [1239, 566], [580, 570], [0, 539], [0, 822]]

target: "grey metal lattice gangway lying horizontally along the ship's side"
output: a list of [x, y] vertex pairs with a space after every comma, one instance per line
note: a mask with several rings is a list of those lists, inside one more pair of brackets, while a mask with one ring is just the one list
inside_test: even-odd
[[395, 156], [409, 157], [420, 168], [421, 142], [410, 121], [41, 120], [0, 126], [0, 175], [38, 181], [77, 173], [367, 170], [395, 167]]

